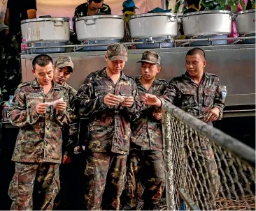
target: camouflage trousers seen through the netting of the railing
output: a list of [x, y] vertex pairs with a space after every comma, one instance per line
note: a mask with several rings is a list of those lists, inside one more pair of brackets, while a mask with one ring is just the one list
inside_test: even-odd
[[[193, 181], [197, 182], [196, 186], [192, 184], [198, 189], [198, 192], [194, 193], [196, 198], [192, 197], [193, 201], [198, 203], [201, 198], [202, 201], [208, 201], [210, 204], [217, 196], [220, 188], [218, 166], [215, 162], [210, 141], [203, 136], [197, 136], [197, 139], [194, 140], [197, 141], [189, 140], [184, 148], [185, 163], [187, 165], [185, 178], [187, 178], [188, 184]], [[190, 190], [187, 190], [188, 192]]]

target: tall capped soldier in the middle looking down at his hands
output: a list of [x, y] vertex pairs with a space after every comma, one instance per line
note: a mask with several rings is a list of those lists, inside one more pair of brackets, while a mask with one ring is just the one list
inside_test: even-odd
[[[138, 118], [140, 103], [134, 79], [122, 69], [127, 46], [108, 45], [106, 68], [88, 75], [76, 99], [81, 116], [90, 118], [85, 177], [85, 205], [89, 210], [119, 210], [125, 185], [130, 122]], [[103, 197], [105, 190], [105, 195]]]

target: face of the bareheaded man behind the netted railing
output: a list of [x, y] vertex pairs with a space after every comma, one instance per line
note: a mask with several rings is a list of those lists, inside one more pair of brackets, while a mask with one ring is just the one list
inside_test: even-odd
[[206, 61], [200, 54], [186, 56], [186, 69], [187, 73], [194, 77], [204, 72]]

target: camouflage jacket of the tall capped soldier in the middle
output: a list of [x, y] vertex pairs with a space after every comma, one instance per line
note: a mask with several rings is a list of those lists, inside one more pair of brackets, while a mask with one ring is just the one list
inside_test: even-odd
[[[133, 96], [134, 104], [130, 107], [108, 107], [104, 96]], [[88, 117], [89, 134], [86, 148], [93, 152], [113, 152], [127, 155], [131, 136], [130, 122], [138, 118], [140, 103], [134, 79], [121, 72], [116, 84], [106, 74], [106, 68], [87, 76], [76, 95], [80, 116]]]

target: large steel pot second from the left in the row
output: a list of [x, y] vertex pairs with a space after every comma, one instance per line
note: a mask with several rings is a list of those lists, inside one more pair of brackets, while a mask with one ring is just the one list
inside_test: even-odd
[[92, 15], [76, 19], [78, 40], [120, 40], [124, 37], [124, 19], [120, 15]]

